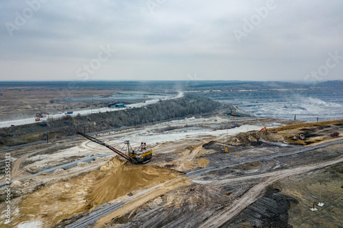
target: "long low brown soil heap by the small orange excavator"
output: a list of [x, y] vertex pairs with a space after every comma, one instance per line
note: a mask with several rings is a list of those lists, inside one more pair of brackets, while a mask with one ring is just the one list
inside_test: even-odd
[[237, 136], [230, 138], [228, 144], [233, 146], [248, 145], [252, 142], [257, 142], [258, 140], [265, 140], [268, 142], [285, 142], [285, 138], [279, 134], [274, 134], [270, 132], [257, 132], [248, 131], [241, 132]]

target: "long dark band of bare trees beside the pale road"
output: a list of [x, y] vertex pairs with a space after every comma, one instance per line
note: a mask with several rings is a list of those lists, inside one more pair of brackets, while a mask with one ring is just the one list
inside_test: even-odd
[[77, 131], [97, 132], [121, 127], [132, 127], [176, 118], [213, 112], [220, 103], [186, 94], [185, 97], [169, 101], [159, 101], [144, 107], [134, 107], [116, 112], [104, 112], [87, 116], [69, 116], [49, 119], [31, 125], [5, 127], [0, 129], [0, 147], [10, 147], [29, 142], [74, 136]]

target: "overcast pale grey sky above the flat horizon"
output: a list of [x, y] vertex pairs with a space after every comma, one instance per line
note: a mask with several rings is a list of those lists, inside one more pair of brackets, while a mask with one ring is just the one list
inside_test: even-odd
[[3, 0], [0, 80], [343, 79], [342, 11], [341, 0]]

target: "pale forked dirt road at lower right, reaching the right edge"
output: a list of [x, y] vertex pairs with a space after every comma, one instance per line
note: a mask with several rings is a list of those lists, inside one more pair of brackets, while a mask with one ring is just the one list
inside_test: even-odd
[[287, 170], [280, 170], [280, 171], [272, 172], [269, 174], [267, 173], [267, 174], [262, 174], [262, 175], [256, 175], [256, 177], [254, 177], [254, 176], [252, 176], [252, 177], [237, 177], [234, 179], [228, 179], [226, 181], [240, 181], [240, 180], [244, 180], [244, 179], [251, 179], [251, 178], [257, 178], [257, 177], [268, 177], [269, 176], [268, 179], [265, 179], [265, 181], [258, 183], [256, 186], [254, 186], [253, 188], [248, 190], [248, 192], [246, 192], [246, 194], [244, 194], [243, 197], [234, 201], [230, 205], [230, 207], [227, 207], [223, 212], [221, 212], [220, 214], [217, 214], [216, 216], [212, 216], [211, 218], [206, 220], [206, 222], [204, 224], [202, 224], [200, 227], [211, 227], [211, 228], [221, 227], [222, 225], [227, 223], [230, 219], [237, 216], [237, 214], [239, 214], [239, 212], [241, 212], [246, 207], [248, 207], [248, 205], [257, 201], [257, 199], [259, 199], [262, 196], [263, 190], [265, 190], [265, 188], [267, 186], [274, 183], [275, 181], [278, 181], [279, 179], [283, 179], [285, 177], [289, 177], [292, 175], [298, 175], [300, 173], [307, 173], [310, 170], [314, 170], [317, 168], [324, 168], [326, 166], [331, 166], [333, 164], [337, 164], [340, 162], [343, 162], [342, 156], [338, 159], [331, 160], [329, 162], [322, 162], [319, 164], [311, 164], [311, 165], [307, 165], [307, 166], [290, 168]]

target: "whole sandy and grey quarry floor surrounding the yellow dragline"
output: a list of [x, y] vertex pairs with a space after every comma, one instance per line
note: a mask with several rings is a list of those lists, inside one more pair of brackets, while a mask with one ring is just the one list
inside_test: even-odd
[[[329, 133], [342, 132], [342, 123], [294, 125], [272, 119], [213, 116], [96, 136], [109, 144], [125, 138], [132, 139], [134, 146], [150, 142], [154, 157], [143, 165], [130, 164], [83, 138], [8, 149], [2, 152], [14, 157], [12, 222], [4, 225], [2, 213], [0, 225], [67, 227], [99, 208], [124, 203], [88, 226], [253, 227], [272, 226], [276, 220], [274, 227], [287, 227], [288, 223], [294, 227], [340, 227], [343, 160], [342, 143], [335, 141], [342, 138], [331, 138]], [[223, 129], [223, 125], [235, 127]], [[174, 129], [165, 130], [167, 126]], [[268, 131], [260, 133], [265, 126]], [[270, 133], [275, 127], [279, 132]], [[289, 140], [298, 134], [305, 134], [305, 140]], [[324, 144], [327, 142], [332, 144]], [[78, 162], [96, 155], [104, 156]], [[75, 166], [44, 172], [75, 161]], [[321, 210], [320, 217], [312, 218], [309, 206], [318, 201], [320, 183], [325, 192], [322, 197], [328, 202], [322, 209], [332, 213], [327, 216]], [[280, 199], [276, 203], [284, 214], [261, 210], [259, 203], [268, 205], [261, 202], [270, 199]], [[253, 210], [254, 205], [258, 210]], [[3, 201], [0, 207], [3, 212]], [[226, 213], [232, 215], [230, 220]], [[249, 216], [239, 217], [244, 214]], [[270, 214], [269, 220], [265, 214]]]

